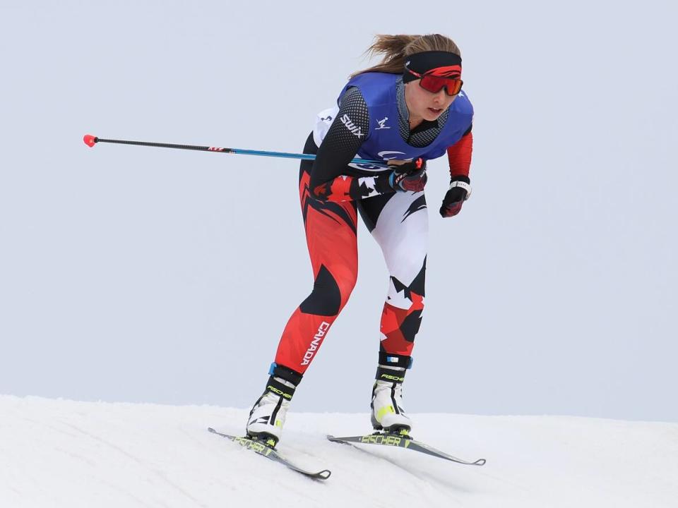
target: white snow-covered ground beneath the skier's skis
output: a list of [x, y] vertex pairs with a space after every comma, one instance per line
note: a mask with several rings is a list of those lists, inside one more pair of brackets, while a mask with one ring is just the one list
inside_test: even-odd
[[206, 430], [246, 416], [0, 396], [0, 507], [678, 507], [675, 423], [412, 415], [417, 439], [478, 467], [325, 440], [367, 433], [367, 413], [292, 412], [280, 452], [323, 482]]

